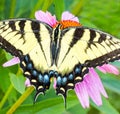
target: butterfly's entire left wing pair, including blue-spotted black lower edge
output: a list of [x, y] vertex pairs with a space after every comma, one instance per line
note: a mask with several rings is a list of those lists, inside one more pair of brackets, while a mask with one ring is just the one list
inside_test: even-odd
[[[44, 92], [50, 85], [48, 74], [45, 74], [44, 79], [43, 73], [52, 64], [51, 33], [49, 25], [36, 20], [12, 19], [0, 22], [0, 46], [20, 58], [24, 75], [38, 92]], [[47, 80], [47, 84], [41, 80]]]

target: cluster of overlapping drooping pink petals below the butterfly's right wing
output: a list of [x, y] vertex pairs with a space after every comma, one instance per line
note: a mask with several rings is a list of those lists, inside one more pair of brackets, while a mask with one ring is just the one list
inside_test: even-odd
[[102, 105], [101, 94], [106, 98], [108, 97], [98, 74], [93, 68], [89, 69], [89, 73], [84, 76], [82, 82], [75, 85], [75, 92], [83, 108], [89, 107], [88, 96], [98, 106]]

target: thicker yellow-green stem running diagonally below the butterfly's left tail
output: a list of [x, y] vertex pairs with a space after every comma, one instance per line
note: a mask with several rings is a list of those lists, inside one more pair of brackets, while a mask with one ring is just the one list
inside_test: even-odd
[[24, 94], [12, 105], [6, 114], [13, 114], [13, 112], [23, 103], [23, 101], [33, 92], [34, 88], [31, 86], [27, 88]]

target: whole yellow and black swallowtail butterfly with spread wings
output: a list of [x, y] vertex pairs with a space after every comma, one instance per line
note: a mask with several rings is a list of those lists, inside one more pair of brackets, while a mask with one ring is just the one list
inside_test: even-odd
[[19, 57], [23, 74], [39, 94], [56, 79], [56, 94], [67, 91], [84, 79], [90, 67], [120, 59], [120, 40], [85, 26], [51, 27], [32, 19], [0, 22], [0, 47]]

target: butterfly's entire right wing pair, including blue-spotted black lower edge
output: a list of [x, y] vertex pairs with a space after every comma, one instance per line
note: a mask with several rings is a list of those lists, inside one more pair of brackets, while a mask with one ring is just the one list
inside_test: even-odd
[[[57, 67], [66, 77], [66, 83], [57, 87], [57, 93], [66, 96], [68, 89], [73, 89], [82, 81], [88, 68], [120, 59], [120, 40], [87, 27], [69, 27], [61, 31]], [[70, 80], [71, 77], [74, 79]], [[59, 82], [59, 81], [58, 81]]]

